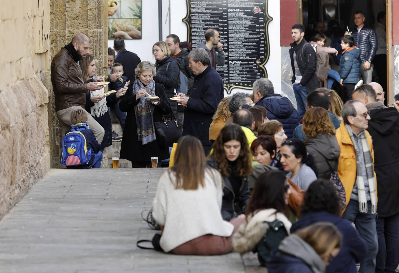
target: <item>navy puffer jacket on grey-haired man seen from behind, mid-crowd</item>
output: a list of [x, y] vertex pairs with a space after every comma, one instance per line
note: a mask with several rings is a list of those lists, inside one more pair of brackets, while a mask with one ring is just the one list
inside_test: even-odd
[[261, 98], [256, 104], [266, 108], [269, 120], [281, 122], [285, 134], [288, 138], [291, 138], [301, 118], [288, 98], [282, 97], [280, 94], [269, 94]]

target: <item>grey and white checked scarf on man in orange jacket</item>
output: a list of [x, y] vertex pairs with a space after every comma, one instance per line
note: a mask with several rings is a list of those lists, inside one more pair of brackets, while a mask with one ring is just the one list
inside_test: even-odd
[[[355, 150], [358, 149], [355, 138], [353, 136], [352, 128], [348, 124], [345, 125], [346, 130], [349, 133], [350, 138], [352, 139]], [[377, 194], [375, 192], [375, 177], [374, 177], [374, 168], [373, 168], [373, 159], [371, 158], [371, 152], [369, 143], [367, 141], [366, 134], [361, 134], [361, 147], [363, 149], [364, 163], [366, 165], [367, 171], [367, 179], [369, 183], [369, 192], [370, 192], [370, 200], [371, 200], [371, 214], [375, 214], [377, 212]], [[366, 213], [367, 212], [367, 197], [366, 191], [364, 188], [363, 175], [361, 173], [361, 166], [359, 163], [358, 157], [356, 157], [356, 185], [358, 186], [358, 197], [359, 197], [359, 212]]]

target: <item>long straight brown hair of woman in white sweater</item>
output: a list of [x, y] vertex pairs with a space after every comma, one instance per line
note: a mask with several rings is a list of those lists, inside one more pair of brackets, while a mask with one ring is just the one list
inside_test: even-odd
[[181, 137], [178, 141], [174, 165], [168, 171], [169, 175], [174, 172], [176, 189], [197, 190], [199, 185], [205, 187], [205, 172], [208, 172], [215, 181], [211, 170], [206, 164], [201, 141], [193, 136]]

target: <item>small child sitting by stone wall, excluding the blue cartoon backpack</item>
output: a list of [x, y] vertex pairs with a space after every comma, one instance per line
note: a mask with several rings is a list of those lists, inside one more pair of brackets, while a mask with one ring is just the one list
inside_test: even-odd
[[[87, 151], [92, 148], [91, 159], [89, 164], [82, 164], [78, 166], [68, 166], [67, 169], [90, 169], [90, 168], [99, 168], [101, 166], [101, 161], [103, 160], [103, 153], [100, 151], [100, 143], [97, 142], [97, 139], [94, 135], [93, 130], [89, 128], [87, 125], [87, 112], [83, 109], [73, 110], [71, 112], [71, 128], [85, 128], [85, 130], [80, 131], [83, 136], [86, 138], [86, 147]], [[65, 135], [72, 130], [67, 130]]]

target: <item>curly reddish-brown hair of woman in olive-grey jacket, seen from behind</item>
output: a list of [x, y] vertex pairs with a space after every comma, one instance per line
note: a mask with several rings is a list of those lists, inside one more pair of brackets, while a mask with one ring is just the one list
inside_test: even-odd
[[302, 130], [308, 137], [316, 137], [318, 134], [335, 135], [330, 116], [327, 110], [321, 107], [313, 107], [306, 111]]

